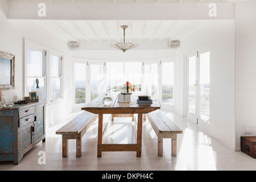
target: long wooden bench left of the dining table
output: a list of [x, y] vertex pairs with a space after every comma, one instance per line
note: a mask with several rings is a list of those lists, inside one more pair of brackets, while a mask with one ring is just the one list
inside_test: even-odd
[[61, 127], [56, 131], [57, 135], [62, 135], [62, 156], [68, 157], [68, 140], [76, 139], [76, 157], [80, 158], [82, 155], [82, 136], [88, 131], [90, 126], [98, 118], [98, 114], [83, 111], [72, 121]]

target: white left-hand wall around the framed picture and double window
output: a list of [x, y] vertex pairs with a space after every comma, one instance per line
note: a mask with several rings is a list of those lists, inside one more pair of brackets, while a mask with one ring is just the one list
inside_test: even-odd
[[[70, 78], [67, 73], [69, 68], [70, 52], [68, 44], [55, 35], [44, 30], [32, 20], [7, 20], [0, 11], [0, 51], [15, 55], [15, 88], [14, 94], [19, 95], [19, 88], [24, 88], [24, 38], [41, 46], [61, 52], [64, 55], [64, 101], [46, 107], [47, 126], [65, 121], [70, 113], [69, 95]], [[10, 90], [5, 90], [7, 102], [10, 102]], [[12, 96], [12, 97], [13, 97]]]

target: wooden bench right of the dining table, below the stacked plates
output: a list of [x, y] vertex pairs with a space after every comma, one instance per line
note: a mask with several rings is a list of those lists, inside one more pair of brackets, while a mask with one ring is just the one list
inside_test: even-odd
[[183, 131], [160, 110], [153, 111], [146, 115], [158, 137], [158, 156], [163, 156], [163, 138], [171, 138], [172, 156], [176, 156], [177, 134], [181, 134]]

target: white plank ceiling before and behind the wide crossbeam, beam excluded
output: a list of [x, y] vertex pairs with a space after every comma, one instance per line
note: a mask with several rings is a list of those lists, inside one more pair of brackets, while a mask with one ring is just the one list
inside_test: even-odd
[[[193, 4], [193, 3], [230, 3], [233, 0], [8, 0], [9, 5], [45, 3], [81, 4]], [[132, 12], [131, 12], [132, 13]], [[143, 13], [143, 12], [142, 12]], [[79, 43], [117, 43], [123, 42], [121, 25], [128, 25], [126, 43], [168, 43], [182, 40], [207, 20], [33, 20], [47, 31], [65, 41]]]

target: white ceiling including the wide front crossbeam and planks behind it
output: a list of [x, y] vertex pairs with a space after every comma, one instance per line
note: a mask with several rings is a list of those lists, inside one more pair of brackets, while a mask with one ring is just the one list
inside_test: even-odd
[[[39, 17], [38, 3], [47, 16]], [[209, 3], [218, 3], [217, 18], [209, 18]], [[169, 49], [210, 20], [234, 18], [230, 0], [8, 0], [7, 18], [28, 20], [59, 38], [80, 43], [80, 50], [111, 50], [110, 44], [139, 44], [138, 50]], [[192, 7], [190, 7], [192, 6]], [[122, 14], [122, 9], [125, 13]], [[115, 12], [118, 10], [118, 12]], [[152, 12], [154, 11], [154, 12]], [[105, 14], [104, 14], [105, 13]], [[123, 15], [123, 16], [121, 16]]]

